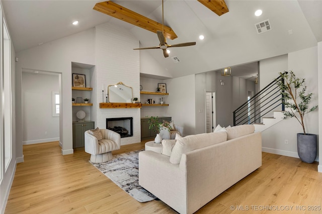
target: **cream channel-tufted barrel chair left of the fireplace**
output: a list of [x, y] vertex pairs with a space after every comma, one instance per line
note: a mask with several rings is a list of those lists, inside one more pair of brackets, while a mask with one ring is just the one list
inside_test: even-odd
[[121, 147], [120, 134], [109, 130], [100, 129], [103, 139], [98, 141], [91, 135], [90, 130], [85, 132], [85, 152], [91, 154], [91, 162], [104, 163], [113, 159], [112, 151]]

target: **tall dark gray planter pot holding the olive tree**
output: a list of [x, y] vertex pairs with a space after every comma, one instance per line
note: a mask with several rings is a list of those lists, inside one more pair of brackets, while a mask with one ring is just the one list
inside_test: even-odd
[[313, 163], [317, 152], [317, 138], [314, 134], [297, 133], [297, 153], [301, 161]]

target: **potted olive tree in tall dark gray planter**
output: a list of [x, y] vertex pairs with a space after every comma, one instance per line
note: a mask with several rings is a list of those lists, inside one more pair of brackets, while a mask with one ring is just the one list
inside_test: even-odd
[[305, 163], [312, 163], [316, 158], [317, 140], [315, 134], [306, 133], [304, 116], [317, 109], [317, 105], [309, 108], [312, 93], [307, 93], [303, 85], [305, 78], [298, 78], [293, 71], [279, 73], [281, 78], [276, 79], [281, 90], [282, 102], [287, 108], [284, 119], [296, 118], [300, 123], [303, 133], [297, 133], [297, 153]]

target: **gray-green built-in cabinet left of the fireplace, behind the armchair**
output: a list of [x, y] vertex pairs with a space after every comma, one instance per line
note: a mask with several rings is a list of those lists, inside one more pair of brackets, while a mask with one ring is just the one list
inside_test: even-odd
[[84, 136], [87, 130], [94, 129], [94, 121], [72, 122], [72, 147], [84, 147]]

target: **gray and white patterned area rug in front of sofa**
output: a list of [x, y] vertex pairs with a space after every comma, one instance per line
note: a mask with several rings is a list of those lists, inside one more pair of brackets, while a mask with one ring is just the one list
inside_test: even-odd
[[137, 201], [146, 202], [156, 197], [139, 185], [138, 154], [141, 151], [144, 149], [113, 155], [106, 163], [90, 163]]

